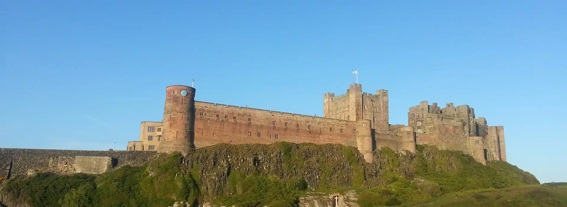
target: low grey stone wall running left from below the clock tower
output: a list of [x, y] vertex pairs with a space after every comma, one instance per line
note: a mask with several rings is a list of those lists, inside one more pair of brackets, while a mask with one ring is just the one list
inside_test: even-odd
[[139, 166], [157, 155], [155, 151], [86, 151], [0, 148], [0, 177], [38, 172], [100, 174], [114, 167]]

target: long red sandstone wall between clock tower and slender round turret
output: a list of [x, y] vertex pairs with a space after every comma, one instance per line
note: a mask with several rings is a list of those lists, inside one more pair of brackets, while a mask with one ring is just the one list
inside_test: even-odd
[[[227, 105], [197, 101], [195, 108], [194, 145], [196, 147], [210, 146], [215, 143], [243, 144], [281, 141], [341, 143], [357, 146], [354, 134], [356, 125], [353, 121], [294, 115], [233, 105], [227, 107]], [[276, 125], [273, 125], [274, 121]], [[311, 129], [308, 129], [309, 126]], [[251, 134], [249, 135], [248, 132]], [[257, 134], [259, 132], [260, 137]]]

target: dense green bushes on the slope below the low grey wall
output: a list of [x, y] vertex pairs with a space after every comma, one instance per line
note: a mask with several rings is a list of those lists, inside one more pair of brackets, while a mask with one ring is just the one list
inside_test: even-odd
[[31, 206], [168, 206], [198, 202], [196, 182], [181, 172], [180, 154], [153, 160], [144, 167], [124, 166], [104, 176], [38, 174], [7, 182], [4, 191]]

